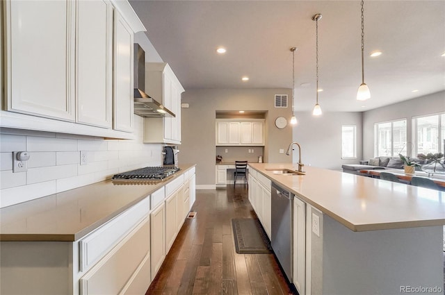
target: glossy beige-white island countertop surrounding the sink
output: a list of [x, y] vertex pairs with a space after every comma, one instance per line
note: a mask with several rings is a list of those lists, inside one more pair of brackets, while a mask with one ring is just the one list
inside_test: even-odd
[[445, 192], [315, 167], [303, 167], [304, 176], [265, 170], [296, 170], [297, 165], [290, 163], [249, 165], [350, 230], [445, 224]]

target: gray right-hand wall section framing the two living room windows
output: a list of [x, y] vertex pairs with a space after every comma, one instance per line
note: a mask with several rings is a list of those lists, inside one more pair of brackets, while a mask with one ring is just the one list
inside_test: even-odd
[[[407, 142], [412, 142], [412, 117], [445, 111], [445, 91], [420, 96], [390, 106], [364, 112], [363, 115], [363, 158], [374, 157], [374, 124], [397, 119], [407, 119]], [[407, 155], [411, 155], [411, 145], [407, 144]], [[411, 155], [414, 156], [414, 155]]]

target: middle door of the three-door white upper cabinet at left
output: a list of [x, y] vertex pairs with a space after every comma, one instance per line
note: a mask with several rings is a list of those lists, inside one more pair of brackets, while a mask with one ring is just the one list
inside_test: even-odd
[[113, 10], [104, 0], [79, 1], [76, 7], [77, 122], [111, 128]]

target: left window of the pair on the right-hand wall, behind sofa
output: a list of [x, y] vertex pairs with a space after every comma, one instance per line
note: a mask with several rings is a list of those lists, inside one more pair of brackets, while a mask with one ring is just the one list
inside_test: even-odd
[[374, 156], [396, 157], [407, 154], [406, 119], [374, 125]]

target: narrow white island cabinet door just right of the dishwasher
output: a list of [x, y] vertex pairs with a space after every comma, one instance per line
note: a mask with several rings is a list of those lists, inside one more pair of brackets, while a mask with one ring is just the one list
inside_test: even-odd
[[293, 284], [299, 294], [305, 294], [305, 205], [305, 202], [297, 197], [293, 199]]

